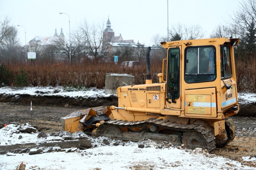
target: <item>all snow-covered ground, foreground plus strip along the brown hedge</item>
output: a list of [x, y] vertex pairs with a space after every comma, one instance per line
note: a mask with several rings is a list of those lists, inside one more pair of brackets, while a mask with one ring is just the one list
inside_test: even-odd
[[[90, 88], [86, 91], [64, 90], [63, 87], [26, 87], [26, 88], [0, 88], [0, 94], [30, 94], [30, 95], [58, 95], [58, 96], [83, 96], [100, 97], [108, 96], [104, 90]], [[240, 93], [242, 102], [256, 102], [256, 94]], [[7, 125], [0, 129], [0, 147], [5, 145], [44, 143], [62, 139], [60, 136], [47, 134], [46, 138], [38, 138], [38, 132], [21, 133], [27, 125]], [[62, 132], [65, 133], [65, 132]], [[20, 135], [22, 136], [21, 139]], [[70, 134], [66, 134], [70, 135]], [[72, 134], [81, 137], [81, 134]], [[85, 135], [85, 134], [84, 134]], [[26, 170], [253, 170], [256, 168], [242, 165], [241, 162], [209, 154], [202, 149], [188, 150], [182, 147], [174, 147], [170, 143], [156, 143], [144, 140], [139, 143], [114, 141], [106, 138], [92, 138], [92, 147], [86, 150], [73, 148], [61, 151], [48, 152], [49, 148], [42, 148], [40, 154], [30, 155], [27, 152], [7, 152], [0, 154], [0, 169], [14, 170], [21, 162], [26, 164]], [[103, 143], [110, 142], [109, 145]], [[114, 143], [119, 145], [115, 146]], [[138, 145], [143, 144], [143, 148]], [[256, 158], [242, 157], [244, 161], [255, 162]]]

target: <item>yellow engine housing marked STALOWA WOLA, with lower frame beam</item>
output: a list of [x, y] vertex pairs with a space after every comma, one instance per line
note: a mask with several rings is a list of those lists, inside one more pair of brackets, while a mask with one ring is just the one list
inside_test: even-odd
[[[164, 109], [166, 83], [142, 84], [133, 86], [124, 86], [117, 89], [118, 107], [132, 107], [134, 109]], [[158, 111], [159, 112], [159, 111]], [[126, 111], [118, 109], [114, 119], [127, 121], [141, 121], [156, 117], [155, 115], [146, 114], [146, 111]]]

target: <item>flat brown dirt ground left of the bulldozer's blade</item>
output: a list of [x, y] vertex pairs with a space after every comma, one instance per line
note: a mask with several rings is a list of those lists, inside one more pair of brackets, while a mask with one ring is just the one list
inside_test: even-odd
[[30, 123], [40, 131], [51, 133], [62, 130], [60, 117], [86, 107], [54, 107], [54, 106], [18, 105], [17, 103], [0, 102], [0, 128], [4, 124]]

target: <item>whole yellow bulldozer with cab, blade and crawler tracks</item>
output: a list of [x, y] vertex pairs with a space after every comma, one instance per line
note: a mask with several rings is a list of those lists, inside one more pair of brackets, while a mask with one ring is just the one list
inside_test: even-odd
[[236, 136], [230, 116], [239, 111], [234, 46], [239, 39], [212, 38], [161, 43], [167, 49], [159, 82], [117, 88], [118, 107], [102, 106], [62, 117], [71, 133], [139, 141], [152, 139], [209, 151]]

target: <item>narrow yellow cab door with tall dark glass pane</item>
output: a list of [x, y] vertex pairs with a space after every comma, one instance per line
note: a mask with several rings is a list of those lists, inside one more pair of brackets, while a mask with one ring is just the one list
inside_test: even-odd
[[167, 80], [166, 80], [166, 106], [167, 108], [181, 108], [181, 46], [168, 49]]

